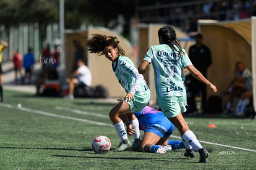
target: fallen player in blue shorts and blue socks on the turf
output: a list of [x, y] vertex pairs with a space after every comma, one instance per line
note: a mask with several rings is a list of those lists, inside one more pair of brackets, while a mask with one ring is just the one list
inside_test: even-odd
[[144, 131], [140, 141], [140, 152], [164, 154], [171, 150], [185, 148], [181, 140], [168, 140], [173, 134], [174, 125], [162, 111], [146, 106], [132, 116], [139, 120], [140, 130]]

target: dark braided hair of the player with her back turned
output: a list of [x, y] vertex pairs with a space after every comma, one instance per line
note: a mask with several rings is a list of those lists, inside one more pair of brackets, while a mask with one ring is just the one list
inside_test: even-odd
[[[176, 32], [173, 29], [172, 26], [163, 26], [158, 30], [158, 36], [163, 39], [163, 43], [164, 44], [169, 44], [169, 46], [171, 46], [174, 50], [176, 50], [177, 52], [179, 52], [179, 55], [181, 55], [182, 53], [184, 53], [182, 51], [181, 46], [179, 45], [179, 42], [177, 41], [177, 36], [176, 36]], [[174, 44], [177, 45], [178, 49], [176, 46], [174, 46]]]

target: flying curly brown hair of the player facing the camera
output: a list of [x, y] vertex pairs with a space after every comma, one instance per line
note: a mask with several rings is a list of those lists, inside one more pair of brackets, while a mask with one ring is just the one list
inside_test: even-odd
[[106, 36], [105, 34], [92, 34], [92, 38], [85, 41], [85, 45], [90, 53], [97, 53], [104, 55], [103, 50], [105, 47], [112, 46], [117, 48], [119, 55], [125, 55], [124, 50], [119, 46], [119, 41], [115, 36]]

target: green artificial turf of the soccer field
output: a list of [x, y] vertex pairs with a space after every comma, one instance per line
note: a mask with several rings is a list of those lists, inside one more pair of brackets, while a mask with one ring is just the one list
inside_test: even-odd
[[[185, 115], [190, 129], [210, 151], [209, 162], [198, 163], [198, 153], [193, 159], [186, 158], [184, 149], [165, 155], [113, 152], [119, 137], [108, 118], [114, 103], [106, 101], [4, 91], [0, 169], [255, 169], [255, 120]], [[210, 123], [217, 127], [208, 128]], [[92, 151], [96, 135], [109, 137], [112, 147], [108, 153]], [[175, 129], [171, 139], [180, 140], [178, 137]], [[133, 141], [132, 136], [129, 139]]]

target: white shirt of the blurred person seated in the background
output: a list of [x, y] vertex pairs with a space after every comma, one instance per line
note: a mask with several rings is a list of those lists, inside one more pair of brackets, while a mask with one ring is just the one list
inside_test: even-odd
[[83, 65], [78, 68], [78, 71], [79, 71], [79, 75], [77, 75], [77, 79], [79, 79], [79, 82], [82, 82], [87, 86], [91, 86], [92, 74], [90, 69], [86, 65]]

